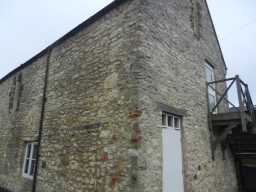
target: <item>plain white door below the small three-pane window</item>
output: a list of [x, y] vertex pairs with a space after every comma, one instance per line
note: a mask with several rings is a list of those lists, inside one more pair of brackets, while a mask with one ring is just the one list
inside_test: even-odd
[[183, 192], [181, 130], [163, 129], [163, 192]]

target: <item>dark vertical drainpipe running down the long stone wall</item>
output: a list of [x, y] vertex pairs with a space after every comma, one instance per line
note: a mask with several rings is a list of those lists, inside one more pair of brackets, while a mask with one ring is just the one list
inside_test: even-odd
[[43, 132], [44, 113], [45, 113], [46, 90], [47, 90], [47, 85], [48, 85], [49, 63], [50, 63], [51, 52], [52, 52], [52, 50], [50, 48], [47, 51], [42, 105], [41, 105], [40, 122], [39, 122], [39, 129], [38, 129], [38, 145], [37, 145], [38, 149], [37, 149], [37, 154], [36, 154], [36, 164], [35, 164], [32, 192], [36, 192], [37, 175], [38, 175], [38, 167], [39, 167], [39, 159], [40, 159], [40, 148], [41, 148], [41, 140], [42, 140], [42, 132]]

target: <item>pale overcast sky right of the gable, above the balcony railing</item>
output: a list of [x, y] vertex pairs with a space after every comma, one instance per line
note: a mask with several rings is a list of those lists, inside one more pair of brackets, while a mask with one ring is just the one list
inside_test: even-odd
[[256, 104], [256, 1], [207, 0], [228, 76], [239, 74], [249, 84]]

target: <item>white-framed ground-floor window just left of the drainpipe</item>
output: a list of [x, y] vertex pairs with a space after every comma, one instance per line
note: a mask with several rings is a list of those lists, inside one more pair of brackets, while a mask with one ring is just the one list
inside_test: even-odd
[[36, 163], [37, 144], [27, 143], [23, 165], [23, 176], [33, 179]]

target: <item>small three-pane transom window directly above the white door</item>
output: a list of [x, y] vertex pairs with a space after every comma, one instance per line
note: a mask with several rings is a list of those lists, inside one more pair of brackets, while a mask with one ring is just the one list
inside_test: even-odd
[[162, 112], [162, 127], [180, 129], [181, 117], [171, 113]]

